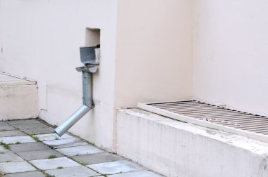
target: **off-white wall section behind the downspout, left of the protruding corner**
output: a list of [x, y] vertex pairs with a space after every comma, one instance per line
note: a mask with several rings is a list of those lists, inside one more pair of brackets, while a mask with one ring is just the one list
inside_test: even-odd
[[113, 147], [116, 0], [0, 1], [0, 70], [37, 80], [40, 117], [63, 122], [82, 104], [79, 46], [86, 27], [101, 29], [102, 60], [94, 77], [95, 109], [71, 129]]

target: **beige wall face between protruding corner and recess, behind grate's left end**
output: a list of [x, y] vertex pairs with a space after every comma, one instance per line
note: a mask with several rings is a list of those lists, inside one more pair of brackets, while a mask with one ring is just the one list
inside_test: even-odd
[[192, 0], [119, 0], [116, 43], [116, 107], [192, 96]]

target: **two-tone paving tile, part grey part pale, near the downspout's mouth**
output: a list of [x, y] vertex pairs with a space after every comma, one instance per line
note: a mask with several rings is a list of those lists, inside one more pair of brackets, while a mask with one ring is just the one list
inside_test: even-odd
[[75, 145], [87, 145], [85, 141], [79, 140], [78, 138], [67, 138], [62, 140], [46, 140], [43, 141], [43, 143], [55, 149], [61, 147], [71, 147]]

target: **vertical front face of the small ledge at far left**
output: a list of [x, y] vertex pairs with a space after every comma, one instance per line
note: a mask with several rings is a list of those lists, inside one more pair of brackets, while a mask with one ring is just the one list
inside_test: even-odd
[[38, 117], [37, 85], [0, 86], [0, 120]]

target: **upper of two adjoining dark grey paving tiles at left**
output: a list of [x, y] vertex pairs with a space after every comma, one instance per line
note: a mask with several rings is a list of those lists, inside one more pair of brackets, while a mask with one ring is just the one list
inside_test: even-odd
[[13, 152], [24, 152], [24, 151], [32, 151], [32, 150], [50, 150], [47, 145], [44, 145], [40, 142], [35, 143], [22, 143], [18, 145], [9, 145]]

